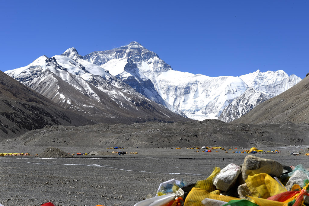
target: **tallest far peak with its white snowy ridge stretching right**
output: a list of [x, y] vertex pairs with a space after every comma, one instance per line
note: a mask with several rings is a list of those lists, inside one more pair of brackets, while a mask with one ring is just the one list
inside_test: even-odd
[[[115, 72], [114, 74], [123, 72], [122, 69], [117, 68], [118, 63], [116, 62], [121, 65], [128, 61], [125, 59], [130, 59], [138, 69], [137, 75], [129, 72], [130, 75], [138, 79], [143, 74], [143, 78], [151, 80], [155, 90], [165, 102], [195, 120], [217, 119], [235, 99], [239, 98], [238, 102], [243, 101], [242, 98], [246, 98], [246, 95], [253, 92], [250, 89], [245, 94], [245, 91], [254, 88], [256, 90], [254, 93], [260, 92], [263, 98], [258, 97], [260, 95], [247, 97], [248, 101], [256, 103], [253, 103], [253, 106], [244, 104], [241, 109], [243, 112], [240, 112], [241, 116], [244, 112], [252, 109], [254, 105], [257, 105], [258, 102], [280, 94], [301, 80], [295, 75], [289, 77], [282, 70], [264, 73], [257, 70], [240, 77], [208, 77], [201, 74], [195, 75], [175, 71], [156, 53], [149, 51], [138, 42], [131, 42], [126, 46], [108, 51], [95, 51], [84, 56], [83, 59], [105, 69], [108, 68], [109, 72]], [[121, 68], [123, 67], [121, 66]], [[122, 75], [126, 77], [125, 75], [128, 74]], [[138, 91], [138, 86], [134, 88]], [[254, 99], [249, 100], [248, 98]], [[156, 101], [160, 102], [159, 100]], [[167, 104], [166, 106], [168, 107]], [[236, 118], [239, 116], [238, 113], [239, 111], [232, 110], [229, 115]]]

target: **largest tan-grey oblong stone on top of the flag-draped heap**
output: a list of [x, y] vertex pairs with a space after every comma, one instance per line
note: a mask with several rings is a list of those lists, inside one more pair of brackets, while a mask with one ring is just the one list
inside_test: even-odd
[[248, 175], [252, 172], [255, 174], [266, 173], [273, 174], [279, 177], [282, 174], [283, 166], [274, 160], [258, 158], [252, 155], [248, 155], [244, 161], [241, 168], [243, 175], [243, 180], [248, 178]]

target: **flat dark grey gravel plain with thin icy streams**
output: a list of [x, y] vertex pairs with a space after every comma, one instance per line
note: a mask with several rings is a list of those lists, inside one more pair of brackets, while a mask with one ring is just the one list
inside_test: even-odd
[[[26, 147], [0, 144], [1, 152], [41, 153], [46, 147]], [[269, 158], [282, 165], [303, 164], [309, 167], [309, 157], [304, 155], [308, 146], [287, 146], [278, 154], [253, 154]], [[122, 150], [126, 155], [114, 155], [115, 149], [60, 147], [65, 152], [77, 153], [108, 151], [104, 156], [82, 156], [79, 158], [34, 158], [0, 157], [0, 203], [3, 206], [39, 206], [51, 201], [56, 206], [97, 204], [134, 205], [146, 195], [155, 195], [161, 182], [178, 179], [187, 184], [206, 179], [214, 166], [220, 168], [230, 163], [242, 164], [246, 153], [232, 153], [250, 148], [213, 150], [199, 149], [133, 148]], [[302, 149], [302, 150], [301, 150]], [[14, 151], [13, 151], [14, 150]], [[302, 152], [291, 156], [290, 152]], [[130, 154], [138, 152], [138, 154]]]

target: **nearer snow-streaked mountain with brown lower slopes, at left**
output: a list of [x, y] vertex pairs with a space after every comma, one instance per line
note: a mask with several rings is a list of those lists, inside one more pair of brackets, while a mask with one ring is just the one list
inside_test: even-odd
[[70, 48], [64, 54], [41, 56], [31, 64], [5, 73], [68, 109], [95, 122], [132, 123], [184, 120], [152, 102], [107, 70], [80, 58]]

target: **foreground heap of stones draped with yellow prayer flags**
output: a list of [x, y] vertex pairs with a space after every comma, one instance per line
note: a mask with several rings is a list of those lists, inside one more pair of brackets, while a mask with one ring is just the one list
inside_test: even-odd
[[[184, 187], [180, 186], [180, 189], [184, 191], [184, 195], [181, 198], [184, 199], [184, 206], [225, 206], [230, 205], [228, 204], [230, 200], [235, 201], [236, 199], [237, 201], [247, 201], [248, 203], [250, 201], [250, 205], [261, 205], [254, 204], [251, 201], [256, 201], [255, 198], [277, 201], [276, 198], [278, 196], [284, 196], [287, 191], [292, 189], [299, 191], [299, 194], [303, 192], [305, 195], [309, 195], [307, 191], [302, 190], [303, 188], [308, 189], [308, 179], [309, 172], [302, 165], [296, 167], [282, 166], [279, 162], [271, 159], [248, 155], [242, 165], [231, 163], [222, 170], [215, 167], [214, 172], [207, 179]], [[307, 204], [309, 203], [309, 196], [305, 195], [304, 203]], [[303, 198], [303, 195], [300, 196]], [[297, 195], [295, 195], [295, 199], [296, 197]], [[210, 202], [213, 201], [213, 198], [218, 202], [211, 204]], [[208, 202], [205, 201], [206, 199]], [[211, 201], [209, 201], [210, 199]], [[299, 204], [293, 203], [291, 205], [301, 205], [302, 201], [303, 199]], [[137, 203], [136, 206], [139, 206], [140, 203]], [[161, 204], [158, 203], [157, 205]]]

